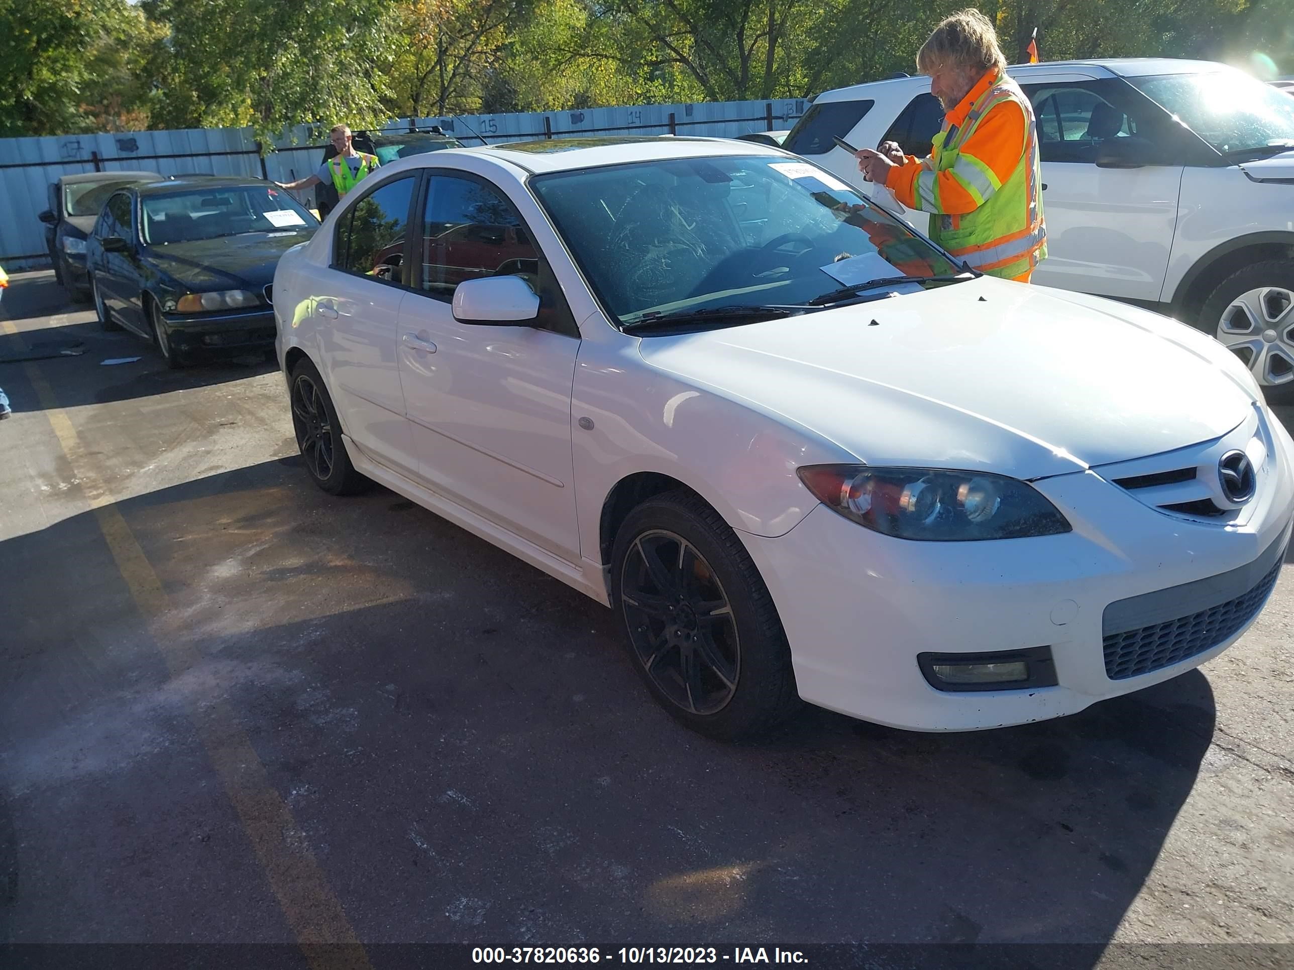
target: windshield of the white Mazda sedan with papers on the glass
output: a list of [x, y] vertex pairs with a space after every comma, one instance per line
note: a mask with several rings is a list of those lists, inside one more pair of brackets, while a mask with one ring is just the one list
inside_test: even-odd
[[531, 186], [624, 325], [958, 272], [848, 185], [784, 155], [608, 166], [538, 176]]

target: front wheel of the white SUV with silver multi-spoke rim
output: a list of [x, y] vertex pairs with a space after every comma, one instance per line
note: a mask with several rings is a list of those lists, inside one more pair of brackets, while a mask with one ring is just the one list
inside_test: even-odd
[[1294, 263], [1232, 273], [1205, 300], [1196, 326], [1240, 357], [1268, 397], [1294, 392]]

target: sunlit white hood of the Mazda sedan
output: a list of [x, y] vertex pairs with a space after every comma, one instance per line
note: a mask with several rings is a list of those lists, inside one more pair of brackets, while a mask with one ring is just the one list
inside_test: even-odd
[[1254, 402], [1240, 362], [1198, 331], [1123, 304], [991, 278], [643, 338], [641, 353], [868, 464], [1018, 479], [1209, 441]]

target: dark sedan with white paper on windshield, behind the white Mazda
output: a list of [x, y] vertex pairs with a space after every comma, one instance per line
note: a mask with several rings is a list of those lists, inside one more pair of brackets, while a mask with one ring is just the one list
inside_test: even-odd
[[274, 266], [316, 229], [308, 210], [259, 178], [126, 186], [85, 244], [98, 319], [151, 340], [172, 367], [270, 349]]

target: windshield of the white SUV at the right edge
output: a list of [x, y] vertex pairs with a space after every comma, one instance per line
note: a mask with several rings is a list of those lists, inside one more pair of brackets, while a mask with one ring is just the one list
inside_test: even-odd
[[1240, 71], [1127, 80], [1224, 155], [1294, 146], [1294, 98]]

